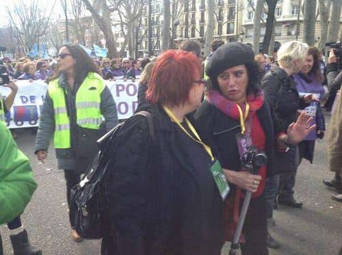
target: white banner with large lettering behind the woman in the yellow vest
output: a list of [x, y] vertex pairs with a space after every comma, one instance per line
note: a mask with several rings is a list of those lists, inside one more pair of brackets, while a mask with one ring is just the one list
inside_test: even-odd
[[[116, 102], [118, 118], [126, 119], [137, 109], [138, 81], [105, 81]], [[40, 112], [44, 96], [47, 94], [47, 83], [42, 80], [16, 81], [18, 92], [10, 111], [5, 114], [10, 129], [33, 127], [39, 125]], [[10, 89], [0, 86], [0, 96], [10, 94]]]

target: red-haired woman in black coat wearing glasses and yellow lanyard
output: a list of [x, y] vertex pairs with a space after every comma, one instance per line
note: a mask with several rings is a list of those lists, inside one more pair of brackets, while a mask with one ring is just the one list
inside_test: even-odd
[[103, 254], [220, 254], [228, 185], [187, 117], [201, 103], [201, 74], [194, 53], [166, 51], [155, 62], [150, 104], [139, 110], [152, 113], [157, 142], [146, 118], [136, 115], [111, 146], [117, 152], [107, 177], [111, 220]]

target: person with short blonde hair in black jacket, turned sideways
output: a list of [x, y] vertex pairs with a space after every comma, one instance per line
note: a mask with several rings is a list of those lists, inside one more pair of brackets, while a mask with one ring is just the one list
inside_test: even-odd
[[[312, 94], [300, 97], [296, 88], [293, 75], [298, 74], [305, 62], [308, 53], [308, 45], [298, 41], [282, 44], [278, 50], [279, 66], [272, 66], [267, 72], [261, 87], [269, 103], [274, 108], [275, 118], [281, 130], [287, 130], [291, 122], [297, 119], [298, 109], [304, 109], [308, 103], [317, 100]], [[273, 208], [276, 194], [278, 203], [301, 208], [302, 202], [297, 202], [293, 197], [295, 174], [298, 167], [298, 146], [289, 144], [287, 136], [284, 137], [287, 148], [278, 148], [274, 153], [274, 173], [267, 178], [265, 196], [267, 200], [267, 225], [273, 224]], [[278, 248], [279, 244], [269, 234], [267, 245]]]

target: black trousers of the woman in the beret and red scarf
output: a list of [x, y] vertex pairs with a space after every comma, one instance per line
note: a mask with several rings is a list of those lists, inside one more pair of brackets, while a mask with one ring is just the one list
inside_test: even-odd
[[[242, 201], [243, 202], [243, 201]], [[240, 204], [240, 210], [242, 207]], [[244, 228], [246, 243], [241, 244], [242, 255], [268, 255], [267, 249], [267, 216], [265, 196], [250, 200]]]

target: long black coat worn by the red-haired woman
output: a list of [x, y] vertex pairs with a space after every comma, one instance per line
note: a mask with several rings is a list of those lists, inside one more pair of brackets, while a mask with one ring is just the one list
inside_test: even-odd
[[159, 106], [139, 110], [153, 114], [157, 142], [152, 142], [146, 118], [133, 116], [111, 146], [117, 151], [106, 182], [111, 220], [103, 254], [219, 255], [218, 189], [218, 206], [202, 210], [210, 198], [179, 148], [174, 124]]

